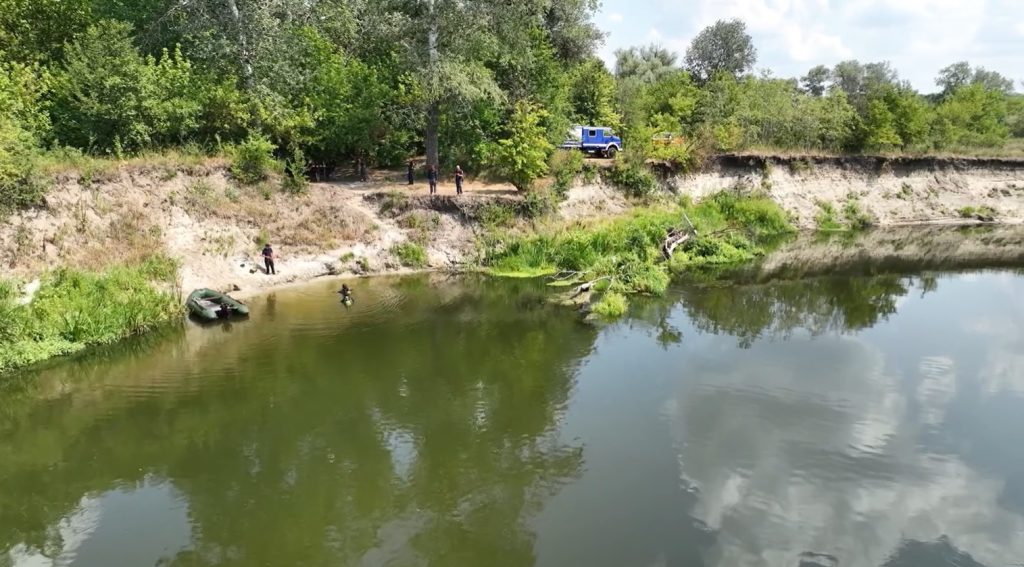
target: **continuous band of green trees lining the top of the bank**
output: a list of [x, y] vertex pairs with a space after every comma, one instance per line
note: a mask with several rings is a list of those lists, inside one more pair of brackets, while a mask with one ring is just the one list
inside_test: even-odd
[[[682, 60], [657, 45], [620, 49], [612, 73], [596, 54], [597, 5], [0, 0], [0, 208], [37, 201], [34, 157], [65, 146], [120, 156], [260, 138], [293, 161], [426, 155], [479, 169], [500, 147], [543, 163], [522, 140], [550, 152], [573, 122], [622, 127], [641, 150], [673, 133], [687, 140], [677, 154], [948, 151], [1024, 135], [1024, 97], [994, 71], [954, 62], [934, 95], [887, 61], [754, 76], [739, 19], [701, 31]], [[529, 136], [510, 137], [513, 125]]]

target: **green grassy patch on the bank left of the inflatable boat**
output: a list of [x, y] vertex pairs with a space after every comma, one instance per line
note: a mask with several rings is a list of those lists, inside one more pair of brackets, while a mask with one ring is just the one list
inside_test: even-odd
[[0, 280], [0, 373], [144, 333], [181, 312], [177, 265], [155, 256], [101, 273], [57, 269], [43, 276], [33, 301]]

